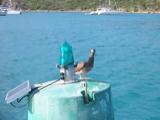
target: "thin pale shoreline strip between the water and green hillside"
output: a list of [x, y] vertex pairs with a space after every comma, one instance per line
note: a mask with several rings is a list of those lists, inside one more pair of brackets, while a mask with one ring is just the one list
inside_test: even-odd
[[[91, 12], [92, 10], [23, 10], [23, 12], [60, 12], [60, 13], [63, 13], [63, 12], [82, 12], [82, 13], [89, 13]], [[129, 11], [129, 12], [126, 12], [126, 13], [129, 13], [129, 14], [160, 14], [160, 11], [137, 11], [137, 12], [134, 12], [134, 11]]]

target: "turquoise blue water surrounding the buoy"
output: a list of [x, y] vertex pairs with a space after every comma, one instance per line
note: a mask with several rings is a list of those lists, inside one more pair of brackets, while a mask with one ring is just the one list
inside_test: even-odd
[[65, 40], [75, 61], [96, 49], [90, 76], [111, 83], [116, 120], [160, 119], [160, 15], [24, 13], [0, 17], [0, 120], [27, 120], [27, 108], [6, 105], [5, 94], [25, 80], [57, 79]]

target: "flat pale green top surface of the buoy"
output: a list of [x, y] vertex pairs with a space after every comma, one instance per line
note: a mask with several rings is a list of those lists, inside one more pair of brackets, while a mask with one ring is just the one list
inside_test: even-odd
[[[78, 97], [81, 96], [81, 92], [85, 90], [85, 81], [70, 83], [70, 84], [56, 84], [42, 89], [35, 95], [49, 96], [49, 97]], [[100, 81], [87, 81], [87, 90], [95, 93], [107, 90], [110, 85]]]

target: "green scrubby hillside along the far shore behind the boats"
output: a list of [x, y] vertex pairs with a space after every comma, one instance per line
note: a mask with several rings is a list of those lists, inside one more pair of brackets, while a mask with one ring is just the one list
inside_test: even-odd
[[[0, 0], [1, 1], [1, 0]], [[14, 0], [24, 10], [93, 10], [108, 0]], [[116, 1], [116, 5], [115, 5]], [[160, 0], [111, 0], [126, 11], [160, 11]], [[116, 7], [117, 6], [117, 7]]]

